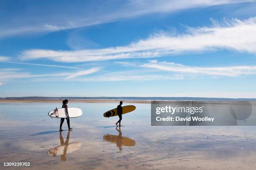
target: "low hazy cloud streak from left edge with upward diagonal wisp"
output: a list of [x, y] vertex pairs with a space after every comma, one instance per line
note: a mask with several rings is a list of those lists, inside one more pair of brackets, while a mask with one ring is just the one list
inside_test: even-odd
[[0, 69], [0, 81], [30, 79], [33, 81], [80, 81], [80, 82], [118, 82], [118, 81], [152, 81], [152, 80], [183, 80], [183, 75], [157, 75], [148, 71], [111, 72], [100, 75], [90, 75], [99, 72], [101, 67], [94, 67], [77, 72], [61, 72], [51, 74], [31, 74], [21, 69]]

